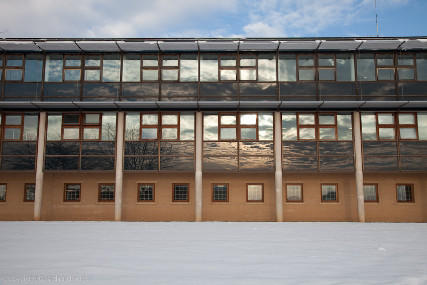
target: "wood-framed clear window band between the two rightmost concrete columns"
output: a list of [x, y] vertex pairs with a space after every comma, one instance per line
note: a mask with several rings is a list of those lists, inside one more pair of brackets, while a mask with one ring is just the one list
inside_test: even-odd
[[350, 114], [282, 113], [284, 141], [294, 140], [352, 140]]

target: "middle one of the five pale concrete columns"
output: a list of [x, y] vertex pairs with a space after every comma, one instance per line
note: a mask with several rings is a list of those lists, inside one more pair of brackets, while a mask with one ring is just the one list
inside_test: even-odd
[[202, 113], [196, 113], [195, 147], [196, 147], [196, 173], [195, 173], [195, 214], [196, 222], [201, 222], [201, 201], [202, 201]]

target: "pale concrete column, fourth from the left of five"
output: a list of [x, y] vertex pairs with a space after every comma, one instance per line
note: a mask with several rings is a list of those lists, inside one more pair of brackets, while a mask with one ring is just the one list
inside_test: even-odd
[[276, 172], [276, 222], [283, 222], [283, 190], [282, 190], [282, 124], [280, 112], [274, 112], [274, 160]]

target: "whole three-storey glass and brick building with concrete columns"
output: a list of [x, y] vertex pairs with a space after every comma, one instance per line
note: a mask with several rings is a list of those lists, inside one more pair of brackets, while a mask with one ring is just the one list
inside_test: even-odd
[[427, 37], [0, 49], [2, 221], [427, 222]]

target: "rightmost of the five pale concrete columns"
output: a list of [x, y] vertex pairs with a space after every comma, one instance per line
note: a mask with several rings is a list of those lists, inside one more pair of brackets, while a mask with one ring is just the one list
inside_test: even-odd
[[356, 159], [356, 196], [357, 219], [365, 222], [365, 198], [363, 196], [363, 171], [362, 171], [362, 138], [360, 128], [360, 113], [353, 112], [354, 119], [354, 156]]

